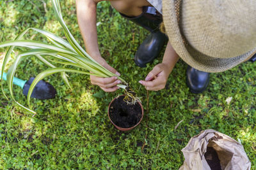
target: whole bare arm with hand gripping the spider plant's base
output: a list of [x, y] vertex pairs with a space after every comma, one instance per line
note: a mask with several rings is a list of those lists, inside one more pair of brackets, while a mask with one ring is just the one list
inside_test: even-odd
[[118, 89], [116, 85], [121, 83], [117, 77], [120, 76], [120, 73], [109, 66], [106, 60], [101, 57], [97, 41], [97, 3], [100, 1], [103, 0], [76, 0], [77, 22], [83, 36], [86, 52], [100, 65], [116, 74], [116, 76], [108, 78], [90, 75], [91, 83], [93, 85], [99, 85], [105, 92], [115, 92]]

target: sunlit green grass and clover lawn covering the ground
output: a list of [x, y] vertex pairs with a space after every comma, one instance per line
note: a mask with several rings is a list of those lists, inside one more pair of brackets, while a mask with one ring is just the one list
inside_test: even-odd
[[[46, 8], [43, 2], [1, 1], [0, 42], [12, 40], [28, 27], [64, 36], [50, 1], [45, 1]], [[74, 1], [61, 1], [61, 8], [68, 29], [83, 45]], [[145, 68], [135, 66], [134, 53], [148, 32], [120, 17], [108, 3], [99, 3], [97, 11], [102, 56], [131, 82], [146, 108], [146, 91], [138, 81], [161, 62], [161, 57]], [[0, 49], [0, 62], [5, 51]], [[132, 131], [116, 130], [108, 120], [107, 108], [122, 90], [103, 92], [91, 85], [86, 75], [69, 74], [72, 90], [59, 74], [45, 79], [54, 85], [58, 95], [47, 101], [31, 99], [31, 106], [38, 113], [35, 117], [1, 95], [0, 169], [179, 169], [184, 161], [180, 150], [204, 129], [240, 140], [252, 169], [256, 169], [255, 64], [246, 62], [230, 71], [211, 74], [208, 89], [191, 94], [186, 87], [187, 65], [180, 60], [166, 88], [149, 92], [148, 127], [154, 131], [147, 129], [146, 117]], [[16, 76], [28, 80], [45, 68], [31, 57], [20, 63]], [[13, 92], [17, 101], [26, 105], [19, 87], [15, 86]], [[229, 104], [228, 97], [232, 97]], [[174, 130], [180, 120], [184, 121]]]

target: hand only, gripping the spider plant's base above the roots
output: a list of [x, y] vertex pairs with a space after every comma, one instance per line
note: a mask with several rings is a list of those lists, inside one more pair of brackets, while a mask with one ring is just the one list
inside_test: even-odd
[[109, 64], [106, 62], [106, 60], [100, 60], [97, 61], [100, 65], [111, 71], [112, 73], [115, 73], [116, 76], [109, 77], [109, 78], [102, 78], [99, 76], [90, 76], [91, 83], [93, 85], [99, 85], [99, 87], [104, 90], [105, 92], [115, 92], [119, 87], [116, 85], [120, 84], [121, 81], [117, 79], [117, 76], [120, 76], [120, 73], [118, 73], [113, 67], [109, 66]]

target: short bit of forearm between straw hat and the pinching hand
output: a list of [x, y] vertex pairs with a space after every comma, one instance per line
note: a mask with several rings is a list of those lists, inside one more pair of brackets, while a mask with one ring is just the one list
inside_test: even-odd
[[163, 64], [166, 64], [171, 72], [179, 58], [179, 55], [177, 55], [171, 43], [168, 41], [164, 52]]

